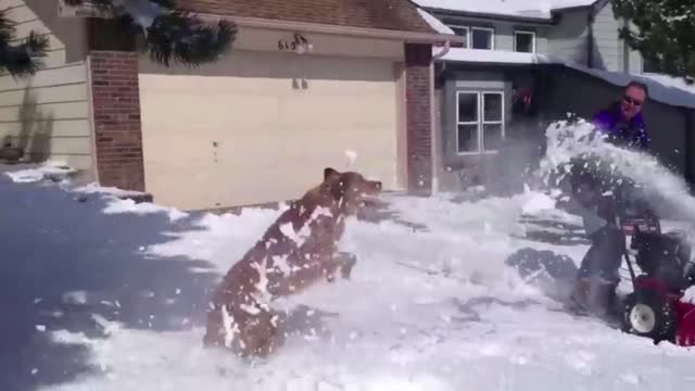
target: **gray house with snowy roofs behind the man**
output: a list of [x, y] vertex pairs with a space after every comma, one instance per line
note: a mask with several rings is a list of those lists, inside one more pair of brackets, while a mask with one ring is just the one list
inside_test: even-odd
[[606, 0], [415, 0], [430, 25], [465, 41], [435, 66], [440, 129], [434, 185], [517, 191], [549, 122], [589, 117], [630, 79], [650, 89], [645, 119], [665, 164], [693, 182], [695, 89], [645, 63], [618, 36]]

